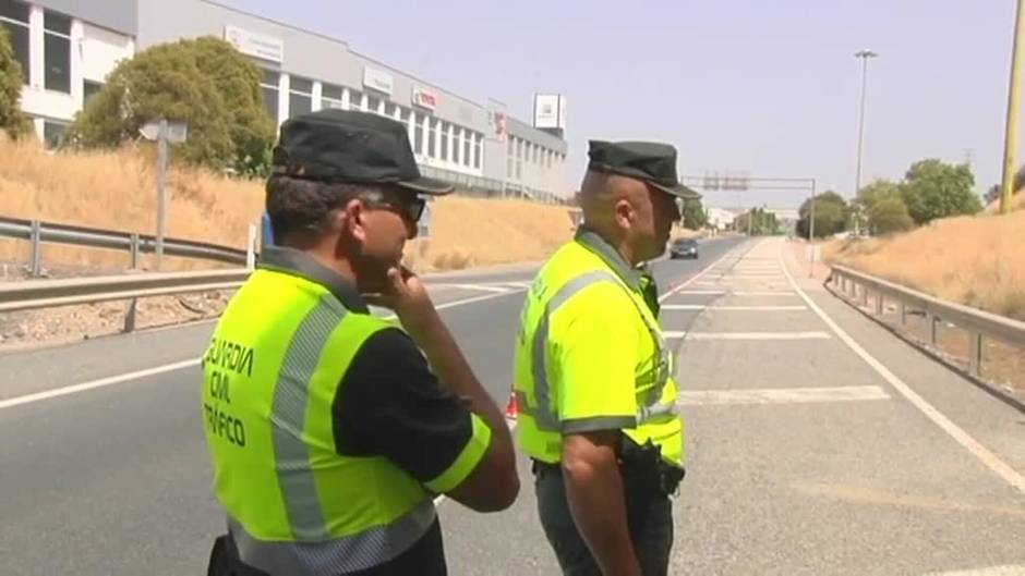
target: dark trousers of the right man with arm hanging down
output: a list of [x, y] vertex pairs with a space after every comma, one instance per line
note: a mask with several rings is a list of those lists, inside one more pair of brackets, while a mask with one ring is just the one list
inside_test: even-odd
[[[673, 502], [631, 489], [624, 478], [627, 524], [644, 576], [667, 576], [673, 548]], [[563, 475], [556, 466], [534, 466], [538, 515], [565, 576], [603, 576], [569, 511]], [[612, 575], [607, 575], [612, 576]]]

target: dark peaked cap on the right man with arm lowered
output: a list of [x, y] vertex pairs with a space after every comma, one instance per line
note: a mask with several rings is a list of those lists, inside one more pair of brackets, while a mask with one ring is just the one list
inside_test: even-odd
[[590, 140], [588, 170], [643, 180], [648, 184], [688, 200], [700, 198], [697, 192], [679, 183], [676, 175], [676, 148], [658, 142]]

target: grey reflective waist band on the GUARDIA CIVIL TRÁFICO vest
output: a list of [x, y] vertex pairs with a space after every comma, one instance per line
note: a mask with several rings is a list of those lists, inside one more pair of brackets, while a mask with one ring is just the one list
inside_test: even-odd
[[228, 529], [249, 566], [267, 574], [345, 574], [383, 564], [415, 543], [434, 524], [434, 503], [424, 501], [388, 526], [324, 542], [267, 542], [228, 518]]

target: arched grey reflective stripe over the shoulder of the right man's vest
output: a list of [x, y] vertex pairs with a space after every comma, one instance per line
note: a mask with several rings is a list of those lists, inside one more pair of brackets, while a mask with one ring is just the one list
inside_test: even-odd
[[638, 307], [632, 294], [629, 293], [629, 289], [623, 285], [623, 282], [620, 282], [614, 273], [607, 270], [592, 270], [563, 284], [555, 295], [545, 303], [544, 312], [541, 315], [541, 320], [538, 323], [538, 329], [534, 331], [534, 338], [531, 342], [531, 371], [534, 379], [534, 397], [538, 399], [538, 405], [532, 406], [522, 391], [516, 390], [514, 392], [520, 409], [534, 419], [539, 430], [556, 432], [562, 428], [558, 421], [558, 414], [554, 409], [550, 397], [551, 387], [547, 376], [548, 319], [555, 310], [562, 307], [562, 305], [568, 302], [574, 295], [599, 282], [612, 282], [627, 292], [627, 298], [629, 298], [630, 303], [637, 308], [637, 314], [639, 314], [641, 320], [643, 320], [654, 343], [655, 352], [652, 358], [652, 364], [654, 365], [654, 376], [652, 377], [654, 385], [648, 394], [648, 405], [641, 406], [638, 410], [637, 425], [640, 426], [655, 417], [675, 414], [676, 412], [675, 405], [665, 405], [659, 401], [659, 399], [662, 397], [665, 383], [670, 379], [672, 365], [672, 355], [665, 347], [661, 329], [658, 326], [652, 326], [648, 317], [640, 307]]

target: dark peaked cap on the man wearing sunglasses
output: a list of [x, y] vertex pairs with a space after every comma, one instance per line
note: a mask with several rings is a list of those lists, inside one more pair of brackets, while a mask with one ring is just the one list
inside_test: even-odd
[[435, 196], [453, 191], [420, 175], [401, 122], [369, 112], [325, 109], [285, 121], [273, 162], [274, 174], [291, 177], [395, 184]]

